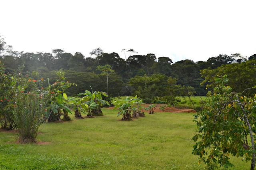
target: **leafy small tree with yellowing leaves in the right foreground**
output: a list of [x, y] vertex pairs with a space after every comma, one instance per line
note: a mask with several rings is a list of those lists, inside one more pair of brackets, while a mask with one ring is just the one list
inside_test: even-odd
[[[194, 135], [193, 154], [200, 156], [208, 169], [234, 166], [229, 156], [251, 160], [251, 170], [255, 166], [256, 142], [256, 95], [244, 96], [235, 93], [226, 83], [227, 76], [216, 78], [217, 86], [208, 92], [203, 110], [194, 115], [198, 133]], [[248, 139], [249, 137], [249, 139]]]

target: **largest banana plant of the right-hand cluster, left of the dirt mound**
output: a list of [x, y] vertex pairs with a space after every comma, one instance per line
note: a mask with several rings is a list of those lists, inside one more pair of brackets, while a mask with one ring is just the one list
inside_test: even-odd
[[137, 111], [138, 108], [136, 107], [137, 104], [142, 104], [141, 99], [137, 98], [137, 95], [130, 99], [130, 97], [126, 97], [124, 101], [114, 101], [112, 104], [116, 104], [113, 110], [119, 109], [118, 115], [123, 115], [121, 121], [132, 121], [131, 112]]

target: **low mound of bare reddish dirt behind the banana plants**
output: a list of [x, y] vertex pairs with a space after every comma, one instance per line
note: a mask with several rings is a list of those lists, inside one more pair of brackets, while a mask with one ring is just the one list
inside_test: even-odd
[[[145, 105], [142, 105], [143, 107], [148, 107], [149, 105], [152, 105], [152, 104], [145, 104]], [[175, 107], [168, 107], [168, 105], [166, 104], [156, 104], [155, 106], [156, 109], [154, 110], [154, 112], [171, 112], [171, 113], [196, 113], [196, 111], [194, 109], [177, 109]], [[161, 110], [160, 107], [161, 106], [166, 106], [164, 107], [164, 110]], [[109, 107], [108, 109], [113, 109], [114, 107]], [[145, 111], [144, 112], [148, 113], [148, 111]]]

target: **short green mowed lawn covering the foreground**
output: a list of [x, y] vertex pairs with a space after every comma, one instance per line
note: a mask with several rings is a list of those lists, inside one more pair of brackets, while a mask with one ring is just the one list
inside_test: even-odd
[[[18, 144], [17, 133], [0, 132], [0, 169], [203, 169], [192, 155], [192, 113], [155, 113], [130, 122], [117, 111], [104, 116], [46, 123], [37, 140]], [[186, 139], [186, 140], [185, 140]], [[47, 142], [47, 143], [46, 143]], [[250, 162], [232, 158], [237, 170]]]

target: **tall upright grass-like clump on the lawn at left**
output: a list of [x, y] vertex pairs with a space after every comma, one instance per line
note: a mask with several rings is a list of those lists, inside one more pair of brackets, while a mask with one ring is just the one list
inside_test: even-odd
[[42, 115], [47, 104], [44, 95], [18, 91], [14, 101], [14, 122], [20, 134], [20, 142], [36, 142], [38, 127], [43, 121]]

